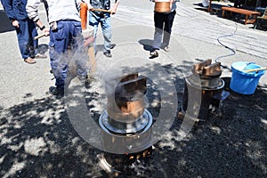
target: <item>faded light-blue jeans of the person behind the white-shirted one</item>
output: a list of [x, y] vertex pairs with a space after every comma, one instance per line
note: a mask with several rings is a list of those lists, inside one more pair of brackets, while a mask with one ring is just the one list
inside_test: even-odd
[[[101, 24], [101, 30], [104, 36], [104, 52], [109, 52], [111, 47], [111, 24], [110, 24], [110, 14], [109, 13], [102, 13], [102, 15], [96, 15], [93, 12], [90, 12], [89, 15], [89, 25], [93, 26], [94, 28], [94, 40], [97, 36], [97, 29]], [[94, 42], [94, 49], [95, 42]]]

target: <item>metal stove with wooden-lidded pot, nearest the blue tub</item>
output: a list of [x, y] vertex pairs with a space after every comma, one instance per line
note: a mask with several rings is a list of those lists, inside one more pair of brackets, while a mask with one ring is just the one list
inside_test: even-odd
[[212, 64], [212, 60], [201, 61], [194, 64], [191, 71], [192, 74], [185, 78], [182, 113], [180, 112], [178, 117], [184, 117], [185, 113], [188, 113], [191, 119], [203, 121], [211, 111], [219, 108], [220, 102], [227, 98], [229, 93], [223, 90], [220, 62]]

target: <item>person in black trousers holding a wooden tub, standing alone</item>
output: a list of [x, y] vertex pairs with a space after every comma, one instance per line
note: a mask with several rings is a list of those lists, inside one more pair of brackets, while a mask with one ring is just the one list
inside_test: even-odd
[[[166, 2], [155, 0], [155, 2]], [[169, 52], [169, 43], [174, 23], [174, 16], [176, 14], [176, 2], [175, 0], [167, 0], [170, 2], [170, 12], [154, 12], [154, 41], [152, 49], [150, 50], [150, 58], [158, 57], [158, 50], [162, 48], [164, 51]], [[162, 42], [162, 43], [161, 43]]]

